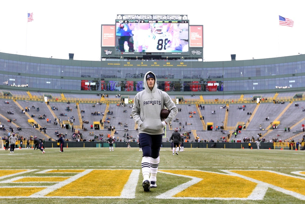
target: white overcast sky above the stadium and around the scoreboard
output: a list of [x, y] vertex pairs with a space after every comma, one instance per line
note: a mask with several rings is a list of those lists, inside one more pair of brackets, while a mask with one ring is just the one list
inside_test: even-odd
[[[115, 24], [117, 14], [183, 14], [203, 25], [205, 61], [298, 55], [305, 54], [304, 9], [303, 0], [1, 1], [0, 52], [98, 61], [101, 24]], [[280, 26], [279, 15], [294, 27]]]

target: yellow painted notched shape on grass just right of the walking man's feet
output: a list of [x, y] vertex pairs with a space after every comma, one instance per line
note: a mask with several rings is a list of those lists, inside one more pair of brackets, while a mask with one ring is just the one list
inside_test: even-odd
[[203, 179], [202, 181], [199, 181], [189, 188], [186, 188], [185, 190], [177, 193], [174, 195], [174, 197], [246, 198], [257, 186], [256, 183], [239, 177], [216, 174], [213, 172], [203, 172], [196, 170], [160, 171]]

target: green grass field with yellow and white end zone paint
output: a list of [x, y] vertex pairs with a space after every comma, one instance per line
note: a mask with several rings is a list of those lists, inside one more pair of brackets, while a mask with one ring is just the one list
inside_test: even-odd
[[[302, 203], [305, 151], [161, 148], [144, 192], [138, 148], [0, 151], [0, 203]], [[16, 171], [33, 170], [33, 171]], [[52, 171], [53, 170], [53, 171]], [[75, 171], [80, 170], [80, 171]], [[49, 171], [53, 173], [48, 173]]]

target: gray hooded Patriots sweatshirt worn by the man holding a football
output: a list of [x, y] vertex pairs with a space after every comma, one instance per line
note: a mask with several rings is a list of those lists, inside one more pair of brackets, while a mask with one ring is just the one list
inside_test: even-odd
[[162, 124], [163, 119], [160, 117], [161, 110], [166, 107], [170, 111], [169, 116], [164, 120], [169, 124], [178, 113], [178, 109], [170, 96], [157, 88], [156, 75], [152, 72], [156, 80], [150, 91], [146, 82], [146, 76], [150, 72], [147, 72], [144, 77], [145, 89], [135, 96], [131, 114], [138, 124], [139, 133], [163, 134], [164, 126]]

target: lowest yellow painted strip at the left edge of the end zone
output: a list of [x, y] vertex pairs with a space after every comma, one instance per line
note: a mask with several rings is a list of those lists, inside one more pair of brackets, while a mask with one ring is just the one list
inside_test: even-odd
[[1, 188], [0, 196], [30, 196], [45, 188]]

